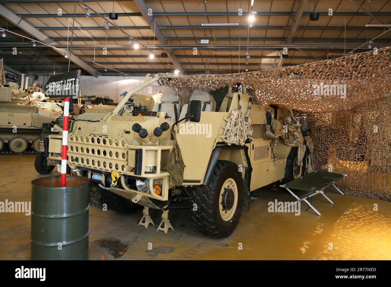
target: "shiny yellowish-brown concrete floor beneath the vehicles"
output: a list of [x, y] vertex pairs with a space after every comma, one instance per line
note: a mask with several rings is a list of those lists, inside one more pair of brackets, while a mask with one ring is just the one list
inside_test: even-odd
[[[0, 156], [0, 201], [30, 201], [30, 182], [40, 177], [34, 155]], [[52, 175], [58, 175], [57, 172]], [[137, 226], [142, 209], [123, 215], [90, 208], [90, 259], [267, 259], [267, 260], [390, 260], [391, 202], [328, 193], [312, 198], [322, 213], [317, 216], [301, 205], [301, 215], [269, 213], [269, 201], [292, 201], [283, 190], [255, 193], [250, 212], [242, 212], [234, 233], [225, 239], [199, 234], [190, 221], [190, 211], [170, 211], [175, 230], [157, 232], [156, 226]], [[378, 211], [373, 210], [374, 204]], [[152, 210], [155, 224], [161, 213]], [[30, 217], [0, 213], [0, 259], [29, 259]], [[242, 250], [238, 249], [242, 243]], [[329, 250], [332, 243], [332, 250]], [[148, 246], [152, 244], [152, 250]]]

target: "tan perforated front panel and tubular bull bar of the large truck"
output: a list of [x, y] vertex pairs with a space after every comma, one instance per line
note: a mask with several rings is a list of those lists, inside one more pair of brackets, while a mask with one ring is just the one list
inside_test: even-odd
[[[57, 139], [58, 143], [56, 145], [58, 145], [58, 148], [56, 150], [61, 153], [61, 135], [55, 135], [52, 139]], [[55, 144], [53, 140], [49, 143]], [[170, 152], [171, 149], [172, 146], [127, 144], [121, 137], [69, 133], [68, 164], [108, 173], [115, 169], [120, 174], [124, 190], [165, 201], [168, 200], [170, 173], [161, 170], [161, 152]], [[48, 159], [59, 158], [58, 156], [48, 157]], [[156, 162], [156, 170], [148, 170], [147, 164], [143, 162], [143, 159], [147, 158]], [[149, 180], [149, 193], [127, 187], [124, 175], [147, 178]], [[158, 179], [162, 180], [161, 195], [154, 192], [153, 181]]]

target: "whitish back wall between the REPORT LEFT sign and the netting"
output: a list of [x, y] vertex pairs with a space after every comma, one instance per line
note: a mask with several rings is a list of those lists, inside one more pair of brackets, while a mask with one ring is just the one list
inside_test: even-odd
[[[97, 96], [104, 98], [108, 96], [115, 103], [120, 101], [119, 95], [124, 91], [129, 91], [134, 87], [142, 84], [145, 77], [120, 77], [120, 76], [81, 76], [80, 91], [82, 95]], [[164, 91], [165, 86], [159, 86], [154, 82], [149, 87], [146, 87], [138, 92], [138, 94], [155, 94], [159, 91]]]

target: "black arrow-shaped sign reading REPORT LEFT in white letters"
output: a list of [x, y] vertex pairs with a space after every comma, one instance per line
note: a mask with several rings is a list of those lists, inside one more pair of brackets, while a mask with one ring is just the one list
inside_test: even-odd
[[80, 70], [53, 75], [45, 85], [49, 98], [77, 98], [79, 95]]

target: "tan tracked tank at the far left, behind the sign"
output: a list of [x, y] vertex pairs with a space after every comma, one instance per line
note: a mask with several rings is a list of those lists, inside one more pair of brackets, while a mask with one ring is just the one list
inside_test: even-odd
[[22, 74], [21, 87], [13, 82], [0, 86], [0, 151], [5, 151], [7, 146], [9, 153], [24, 153], [32, 149], [38, 152], [42, 125], [59, 116], [30, 105], [43, 101], [45, 94], [30, 90], [28, 78], [23, 88], [23, 81]]

